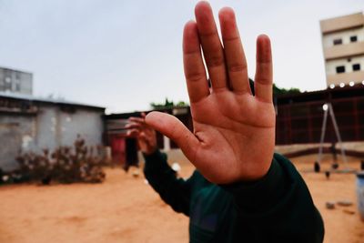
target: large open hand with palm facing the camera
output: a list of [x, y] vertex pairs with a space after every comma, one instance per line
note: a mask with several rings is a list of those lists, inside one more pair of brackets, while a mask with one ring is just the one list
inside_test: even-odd
[[[275, 142], [272, 58], [267, 35], [257, 39], [255, 96], [235, 14], [219, 12], [223, 44], [207, 2], [195, 8], [196, 22], [185, 25], [183, 56], [194, 133], [174, 116], [152, 112], [147, 124], [173, 139], [208, 180], [226, 184], [264, 177]], [[212, 87], [208, 87], [206, 67]]]

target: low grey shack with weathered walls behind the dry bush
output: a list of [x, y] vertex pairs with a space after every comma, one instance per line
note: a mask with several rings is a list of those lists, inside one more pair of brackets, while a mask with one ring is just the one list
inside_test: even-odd
[[25, 151], [72, 146], [77, 135], [86, 145], [102, 145], [104, 113], [104, 107], [0, 92], [0, 168], [14, 169]]

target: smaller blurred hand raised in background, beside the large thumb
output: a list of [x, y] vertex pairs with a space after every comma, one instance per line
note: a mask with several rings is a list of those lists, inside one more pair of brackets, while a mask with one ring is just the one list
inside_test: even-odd
[[129, 129], [126, 136], [136, 137], [140, 150], [150, 155], [157, 150], [157, 137], [156, 131], [147, 126], [145, 117], [145, 113], [142, 113], [141, 117], [130, 117], [126, 124], [126, 128]]

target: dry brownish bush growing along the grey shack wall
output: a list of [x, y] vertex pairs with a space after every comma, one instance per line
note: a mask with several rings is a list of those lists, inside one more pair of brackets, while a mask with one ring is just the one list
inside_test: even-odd
[[44, 149], [43, 154], [27, 152], [16, 157], [16, 161], [19, 168], [9, 174], [13, 182], [100, 183], [106, 176], [102, 147], [86, 147], [81, 137], [77, 137], [74, 147], [58, 147], [52, 153]]

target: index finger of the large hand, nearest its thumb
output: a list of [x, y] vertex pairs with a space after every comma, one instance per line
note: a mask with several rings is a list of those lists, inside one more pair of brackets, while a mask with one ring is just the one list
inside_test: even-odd
[[191, 103], [209, 95], [206, 70], [201, 56], [197, 25], [190, 21], [183, 31], [183, 64]]

